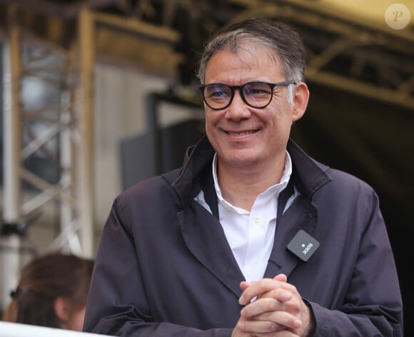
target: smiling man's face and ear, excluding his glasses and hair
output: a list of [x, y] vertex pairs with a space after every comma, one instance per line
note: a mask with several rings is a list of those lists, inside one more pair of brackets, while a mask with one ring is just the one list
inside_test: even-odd
[[[246, 51], [238, 54], [227, 49], [218, 51], [208, 61], [205, 84], [241, 86], [251, 81], [288, 80], [268, 51], [253, 50], [253, 56]], [[303, 86], [306, 89], [301, 84], [299, 91], [305, 90]], [[296, 104], [296, 89], [293, 102], [288, 103], [288, 87], [277, 86], [271, 103], [263, 109], [244, 103], [238, 90], [226, 109], [216, 111], [206, 106], [206, 134], [218, 154], [220, 166], [254, 170], [284, 162], [291, 125], [304, 112]]]

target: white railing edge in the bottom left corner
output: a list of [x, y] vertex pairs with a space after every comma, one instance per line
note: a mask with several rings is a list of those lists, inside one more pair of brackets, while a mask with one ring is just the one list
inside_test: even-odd
[[104, 337], [95, 333], [70, 331], [29, 324], [0, 322], [0, 337]]

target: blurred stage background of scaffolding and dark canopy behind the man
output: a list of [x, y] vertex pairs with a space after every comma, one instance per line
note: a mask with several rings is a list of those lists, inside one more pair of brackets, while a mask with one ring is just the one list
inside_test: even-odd
[[203, 44], [253, 16], [303, 36], [292, 138], [377, 191], [414, 336], [413, 0], [0, 0], [0, 311], [24, 263], [94, 257], [113, 198], [181, 165]]

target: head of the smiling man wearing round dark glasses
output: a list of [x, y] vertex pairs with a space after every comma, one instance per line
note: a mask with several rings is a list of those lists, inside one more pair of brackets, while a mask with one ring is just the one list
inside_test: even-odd
[[248, 19], [208, 41], [198, 77], [219, 162], [246, 167], [284, 159], [291, 125], [308, 104], [305, 66], [301, 37], [280, 22]]

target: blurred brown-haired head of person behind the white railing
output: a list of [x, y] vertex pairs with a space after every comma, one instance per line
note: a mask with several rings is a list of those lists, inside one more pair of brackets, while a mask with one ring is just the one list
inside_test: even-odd
[[94, 261], [48, 253], [21, 271], [4, 321], [81, 331]]

